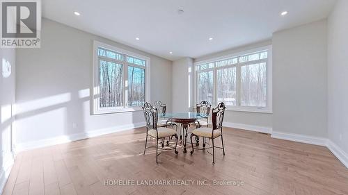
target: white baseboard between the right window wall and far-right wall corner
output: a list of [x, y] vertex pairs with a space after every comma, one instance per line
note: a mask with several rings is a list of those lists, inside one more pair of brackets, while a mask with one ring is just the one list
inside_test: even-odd
[[313, 144], [319, 146], [326, 146], [327, 139], [323, 137], [315, 137], [309, 135], [300, 135], [294, 133], [283, 133], [279, 131], [274, 131], [271, 135], [272, 138], [285, 139], [294, 142], [301, 142], [305, 144]]

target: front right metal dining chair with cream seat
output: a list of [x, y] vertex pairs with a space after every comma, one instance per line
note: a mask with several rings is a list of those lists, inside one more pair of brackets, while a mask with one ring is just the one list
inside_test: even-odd
[[[213, 149], [213, 164], [215, 163], [215, 148], [219, 148], [223, 150], [223, 155], [225, 155], [225, 148], [223, 146], [223, 136], [222, 136], [222, 123], [223, 123], [223, 116], [225, 115], [225, 103], [221, 102], [219, 105], [212, 110], [212, 128], [209, 127], [201, 127], [201, 128], [196, 128], [195, 130], [192, 131], [190, 139], [191, 139], [191, 146], [192, 146], [192, 151], [191, 154], [193, 154], [194, 149], [193, 149], [193, 142], [192, 142], [192, 137], [203, 137], [203, 138], [209, 138], [212, 139], [212, 147], [209, 147], [208, 149]], [[222, 143], [222, 148], [214, 146], [214, 139], [221, 137], [221, 143]], [[203, 149], [205, 149], [205, 146], [203, 146]]]

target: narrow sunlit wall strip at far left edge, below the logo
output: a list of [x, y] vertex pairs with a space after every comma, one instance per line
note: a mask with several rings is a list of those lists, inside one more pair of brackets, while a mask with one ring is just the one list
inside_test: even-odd
[[[15, 104], [15, 49], [0, 49], [0, 194], [13, 164], [12, 133]], [[5, 65], [11, 74], [5, 74]], [[6, 71], [9, 72], [9, 71]]]

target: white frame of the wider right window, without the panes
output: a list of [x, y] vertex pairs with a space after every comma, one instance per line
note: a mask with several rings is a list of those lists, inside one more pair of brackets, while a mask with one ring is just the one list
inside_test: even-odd
[[[239, 56], [245, 56], [251, 53], [257, 53], [258, 51], [264, 51], [268, 50], [268, 56], [267, 60], [253, 60], [249, 62], [242, 62], [239, 63]], [[237, 64], [234, 65], [226, 65], [222, 67], [216, 67], [216, 62], [220, 60], [227, 60], [230, 58], [238, 58]], [[240, 75], [241, 75], [241, 67], [243, 65], [251, 65], [251, 64], [257, 64], [258, 62], [267, 62], [267, 102], [266, 102], [266, 107], [254, 107], [254, 106], [242, 106], [240, 105]], [[209, 62], [214, 62], [214, 67], [213, 68], [207, 68], [204, 70], [198, 70], [197, 66], [199, 65], [204, 65]], [[194, 71], [193, 71], [193, 101], [194, 105], [198, 102], [198, 72], [204, 72], [204, 71], [213, 71], [213, 102], [212, 105], [216, 106], [216, 101], [217, 101], [217, 94], [216, 94], [216, 89], [217, 89], [217, 83], [216, 83], [216, 71], [218, 69], [226, 69], [228, 67], [237, 67], [237, 105], [228, 105], [226, 106], [226, 110], [231, 110], [231, 111], [240, 111], [240, 112], [261, 112], [261, 113], [272, 113], [272, 46], [262, 46], [256, 49], [251, 49], [248, 51], [242, 51], [238, 53], [231, 53], [226, 56], [220, 56], [217, 58], [210, 58], [208, 60], [202, 60], [194, 63]]]

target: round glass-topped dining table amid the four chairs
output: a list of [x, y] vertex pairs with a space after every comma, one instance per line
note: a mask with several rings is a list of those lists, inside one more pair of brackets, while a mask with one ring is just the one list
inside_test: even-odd
[[189, 124], [197, 121], [198, 119], [204, 119], [208, 116], [203, 113], [197, 113], [197, 112], [182, 112], [182, 113], [164, 113], [162, 118], [165, 119], [171, 119], [174, 123], [181, 124], [182, 129], [182, 136], [180, 138], [182, 139], [182, 145], [184, 148], [184, 153], [187, 153], [186, 149], [186, 143], [187, 143], [187, 135], [189, 130]]

